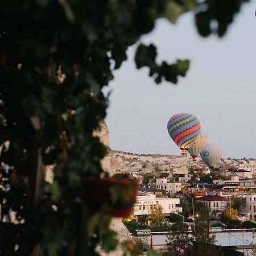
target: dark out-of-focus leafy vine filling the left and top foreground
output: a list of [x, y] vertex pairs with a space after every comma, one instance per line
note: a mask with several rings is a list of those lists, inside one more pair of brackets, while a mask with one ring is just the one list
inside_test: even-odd
[[[0, 195], [3, 255], [97, 255], [99, 244], [107, 252], [117, 246], [111, 216], [92, 212], [83, 195], [84, 179], [104, 176], [100, 161], [108, 148], [94, 136], [109, 105], [102, 88], [127, 60], [130, 46], [136, 47], [138, 69], [147, 67], [157, 84], [176, 84], [189, 60], [160, 61], [154, 44], [143, 44], [141, 36], [156, 19], [175, 23], [193, 10], [200, 35], [223, 36], [242, 3], [1, 2], [0, 143], [9, 147], [1, 154], [6, 165], [0, 179], [10, 180]], [[51, 184], [44, 181], [49, 165]], [[11, 210], [14, 220], [3, 222]]]

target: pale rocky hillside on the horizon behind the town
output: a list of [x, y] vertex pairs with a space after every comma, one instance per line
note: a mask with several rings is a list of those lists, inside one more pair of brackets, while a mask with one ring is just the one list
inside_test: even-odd
[[[123, 151], [110, 151], [109, 155], [110, 166], [114, 172], [152, 172], [156, 165], [163, 170], [166, 166], [205, 167], [205, 163], [200, 156], [196, 158], [196, 162], [193, 162], [190, 155], [140, 155]], [[220, 166], [235, 166], [240, 169], [252, 167], [256, 169], [256, 160], [222, 158], [218, 163], [218, 167]]]

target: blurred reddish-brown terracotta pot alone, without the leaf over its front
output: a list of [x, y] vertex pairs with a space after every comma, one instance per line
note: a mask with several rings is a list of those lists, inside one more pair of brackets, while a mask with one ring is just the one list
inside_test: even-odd
[[[83, 179], [84, 184], [84, 201], [91, 213], [100, 210], [104, 204], [108, 204], [108, 213], [113, 217], [130, 216], [133, 205], [136, 203], [138, 181], [134, 179], [110, 178], [110, 179]], [[127, 201], [117, 201], [113, 203], [111, 200], [110, 188], [130, 187]]]

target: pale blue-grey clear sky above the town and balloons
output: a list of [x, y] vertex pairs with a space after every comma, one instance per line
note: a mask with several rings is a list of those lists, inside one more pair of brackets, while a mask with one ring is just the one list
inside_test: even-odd
[[137, 70], [135, 47], [114, 73], [106, 122], [112, 150], [137, 154], [180, 155], [167, 132], [168, 119], [187, 112], [199, 118], [208, 142], [224, 157], [256, 158], [256, 18], [245, 3], [224, 38], [202, 38], [192, 14], [172, 25], [161, 19], [142, 42], [154, 43], [158, 61], [190, 59], [187, 76], [177, 85], [156, 85], [148, 69]]

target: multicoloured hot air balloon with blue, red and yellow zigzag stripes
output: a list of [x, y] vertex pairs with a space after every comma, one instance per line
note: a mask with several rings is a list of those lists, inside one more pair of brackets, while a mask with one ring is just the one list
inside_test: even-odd
[[195, 115], [180, 113], [172, 116], [167, 123], [167, 130], [175, 144], [183, 151], [195, 141], [201, 125]]

